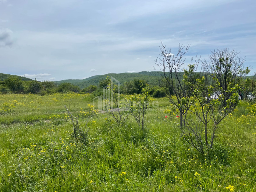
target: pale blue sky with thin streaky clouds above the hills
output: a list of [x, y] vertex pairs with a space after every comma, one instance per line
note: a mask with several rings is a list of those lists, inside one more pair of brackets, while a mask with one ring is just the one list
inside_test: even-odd
[[[256, 72], [255, 0], [0, 0], [0, 73], [84, 79], [153, 71], [161, 41], [186, 64], [235, 48]], [[156, 68], [157, 69], [157, 68]]]

